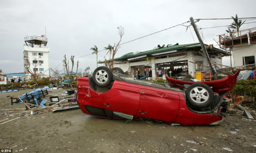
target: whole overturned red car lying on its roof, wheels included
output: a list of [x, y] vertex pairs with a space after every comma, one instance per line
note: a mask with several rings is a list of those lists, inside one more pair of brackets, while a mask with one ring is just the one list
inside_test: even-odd
[[81, 111], [107, 119], [216, 125], [224, 119], [221, 112], [227, 108], [227, 103], [206, 84], [194, 83], [187, 88], [187, 93], [196, 91], [192, 96], [198, 98], [193, 100], [181, 89], [117, 76], [104, 66], [96, 68], [92, 77], [79, 77], [77, 89]]

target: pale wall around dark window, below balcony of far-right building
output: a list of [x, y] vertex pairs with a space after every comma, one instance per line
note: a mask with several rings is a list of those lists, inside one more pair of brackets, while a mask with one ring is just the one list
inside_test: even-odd
[[234, 66], [243, 65], [244, 56], [256, 56], [256, 45], [245, 45], [245, 46], [235, 46], [233, 47], [233, 60]]

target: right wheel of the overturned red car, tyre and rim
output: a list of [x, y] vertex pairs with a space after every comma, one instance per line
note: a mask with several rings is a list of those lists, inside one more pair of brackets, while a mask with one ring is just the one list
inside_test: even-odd
[[194, 83], [187, 88], [186, 97], [195, 107], [208, 107], [213, 102], [213, 90], [204, 83]]

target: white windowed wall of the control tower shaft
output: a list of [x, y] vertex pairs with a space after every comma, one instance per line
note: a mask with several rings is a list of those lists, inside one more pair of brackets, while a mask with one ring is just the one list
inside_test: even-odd
[[[33, 68], [37, 68], [37, 74], [40, 74], [40, 72], [44, 72], [44, 75], [49, 76], [49, 71], [46, 71], [49, 68], [49, 61], [48, 61], [48, 52], [50, 49], [48, 47], [44, 46], [37, 46], [34, 45], [34, 47], [31, 46], [24, 46], [24, 55], [28, 56], [28, 60], [30, 62], [30, 70], [33, 71]], [[33, 56], [33, 52], [37, 53], [37, 56]], [[38, 53], [43, 53], [43, 56], [39, 56]], [[33, 60], [37, 60], [37, 64], [33, 64]], [[43, 64], [40, 64], [39, 61], [43, 61]], [[24, 60], [25, 63], [25, 60]], [[35, 67], [36, 66], [36, 67]], [[43, 68], [43, 71], [40, 71], [40, 68]], [[24, 71], [27, 71], [26, 67], [24, 67]], [[27, 76], [30, 76], [27, 74]], [[28, 79], [28, 78], [27, 78]]]

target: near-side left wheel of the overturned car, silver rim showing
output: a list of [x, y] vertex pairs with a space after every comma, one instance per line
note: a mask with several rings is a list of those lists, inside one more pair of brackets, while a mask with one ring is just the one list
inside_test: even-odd
[[109, 68], [100, 66], [94, 70], [92, 79], [97, 86], [106, 87], [112, 82], [113, 73]]

